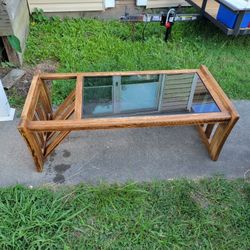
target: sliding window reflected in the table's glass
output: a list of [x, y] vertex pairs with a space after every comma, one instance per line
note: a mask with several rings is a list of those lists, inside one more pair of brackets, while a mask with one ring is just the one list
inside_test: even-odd
[[84, 78], [84, 116], [157, 111], [159, 75]]

